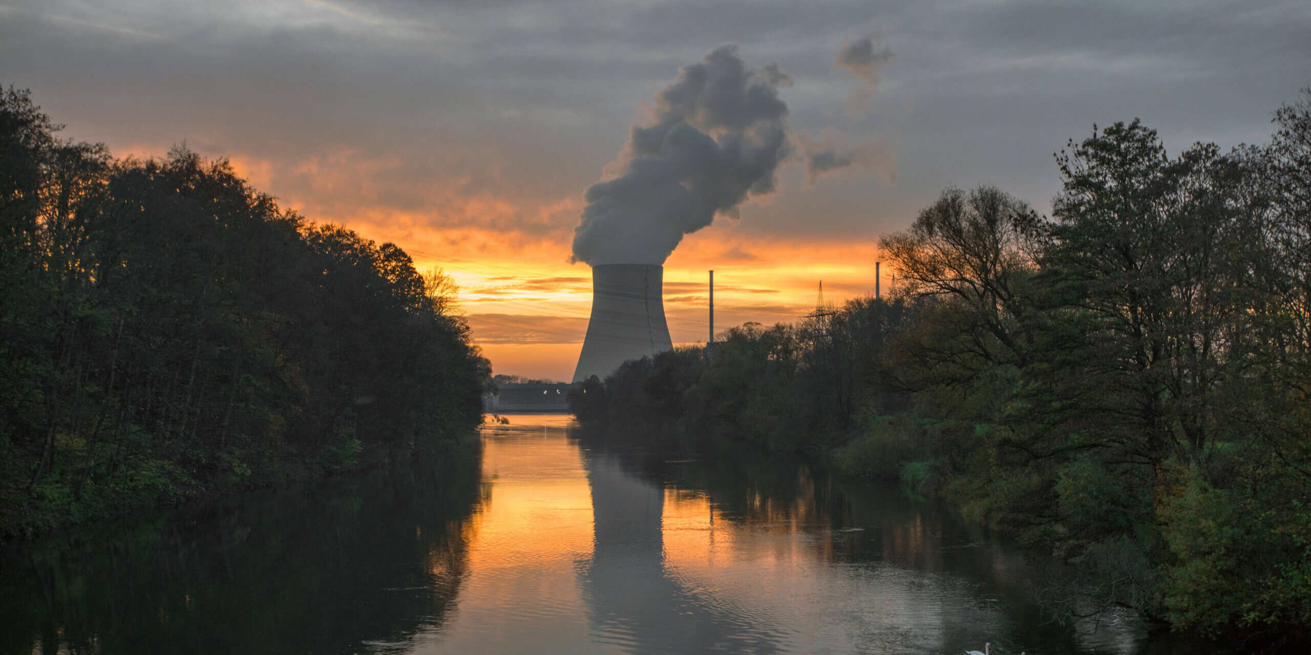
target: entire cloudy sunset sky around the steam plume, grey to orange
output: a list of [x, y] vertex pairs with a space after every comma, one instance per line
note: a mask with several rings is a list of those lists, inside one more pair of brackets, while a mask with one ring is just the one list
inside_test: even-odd
[[705, 338], [707, 269], [718, 328], [792, 320], [821, 279], [830, 300], [872, 290], [877, 236], [949, 185], [1046, 211], [1053, 153], [1093, 123], [1142, 118], [1171, 152], [1264, 141], [1311, 85], [1306, 0], [0, 0], [0, 83], [66, 136], [119, 156], [185, 140], [397, 242], [460, 283], [497, 372], [568, 380], [583, 191], [721, 46], [787, 73], [792, 155], [667, 259], [675, 342]]

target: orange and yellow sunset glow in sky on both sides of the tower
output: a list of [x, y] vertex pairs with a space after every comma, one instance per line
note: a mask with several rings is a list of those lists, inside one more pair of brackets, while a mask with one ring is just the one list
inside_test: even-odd
[[[591, 269], [568, 262], [581, 211], [576, 196], [526, 190], [498, 194], [455, 177], [421, 189], [395, 186], [400, 165], [350, 153], [278, 169], [233, 157], [257, 189], [284, 189], [281, 202], [307, 217], [341, 223], [366, 238], [404, 248], [416, 267], [440, 267], [460, 287], [459, 308], [497, 373], [568, 380], [591, 312]], [[717, 219], [688, 234], [665, 263], [665, 312], [675, 343], [704, 342], [707, 271], [716, 271], [716, 331], [754, 321], [792, 322], [825, 299], [873, 292], [872, 238], [834, 241], [755, 231]], [[884, 288], [888, 290], [885, 274]]]

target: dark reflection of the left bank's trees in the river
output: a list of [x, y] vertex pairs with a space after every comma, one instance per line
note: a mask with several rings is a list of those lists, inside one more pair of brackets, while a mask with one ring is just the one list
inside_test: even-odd
[[0, 652], [399, 648], [454, 607], [476, 455], [94, 525], [0, 559]]

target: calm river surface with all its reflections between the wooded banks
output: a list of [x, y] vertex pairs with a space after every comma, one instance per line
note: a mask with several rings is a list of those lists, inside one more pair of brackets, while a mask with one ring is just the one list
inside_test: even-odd
[[1017, 553], [897, 489], [510, 421], [480, 455], [10, 549], [0, 651], [1171, 650], [1131, 617], [1049, 621]]

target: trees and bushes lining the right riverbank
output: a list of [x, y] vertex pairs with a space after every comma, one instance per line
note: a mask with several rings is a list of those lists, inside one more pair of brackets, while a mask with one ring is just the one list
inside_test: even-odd
[[1050, 217], [948, 189], [880, 240], [889, 297], [628, 362], [573, 410], [944, 498], [1078, 565], [1055, 612], [1306, 642], [1311, 89], [1273, 124], [1177, 156], [1138, 121], [1093, 128]]

